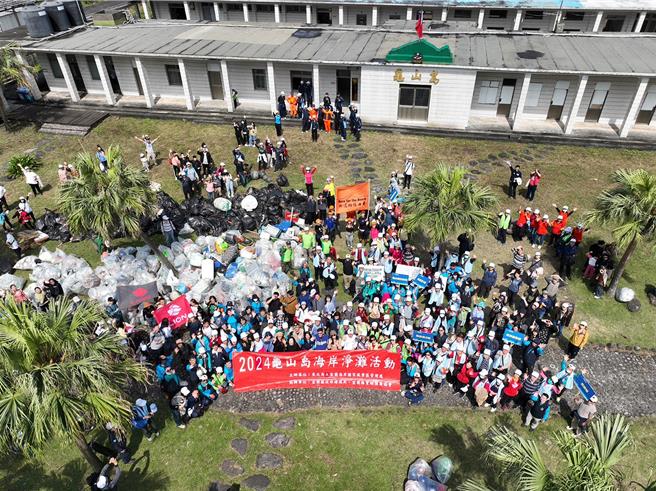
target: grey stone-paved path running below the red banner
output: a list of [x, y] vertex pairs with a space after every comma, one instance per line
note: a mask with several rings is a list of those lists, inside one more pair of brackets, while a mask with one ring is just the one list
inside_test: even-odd
[[[542, 358], [544, 369], [560, 369], [562, 351], [550, 345]], [[656, 414], [656, 354], [607, 351], [587, 347], [576, 359], [579, 369], [587, 370], [587, 379], [599, 396], [602, 412], [622, 413], [629, 416]], [[576, 389], [565, 399], [571, 400]], [[465, 399], [453, 394], [448, 386], [437, 393], [428, 390], [423, 405], [442, 407], [469, 407]], [[398, 392], [379, 392], [355, 389], [276, 389], [266, 392], [237, 394], [233, 391], [212, 405], [212, 408], [238, 413], [283, 412], [311, 407], [374, 407], [404, 406], [407, 400]]]

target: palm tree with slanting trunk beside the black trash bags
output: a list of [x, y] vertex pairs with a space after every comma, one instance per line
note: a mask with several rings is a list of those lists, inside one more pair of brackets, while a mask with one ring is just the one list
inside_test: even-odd
[[60, 190], [61, 210], [76, 234], [93, 232], [110, 241], [117, 234], [139, 238], [157, 255], [162, 264], [177, 273], [171, 262], [141, 229], [141, 220], [153, 218], [157, 196], [148, 174], [128, 165], [117, 146], [107, 149], [107, 172], [102, 172], [94, 156], [77, 156], [79, 177], [67, 181]]

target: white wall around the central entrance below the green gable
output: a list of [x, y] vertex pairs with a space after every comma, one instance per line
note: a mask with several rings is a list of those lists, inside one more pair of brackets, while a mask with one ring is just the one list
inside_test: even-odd
[[[364, 121], [396, 123], [398, 113], [399, 82], [394, 81], [396, 67], [363, 66], [360, 72], [363, 90], [360, 94], [360, 113]], [[446, 69], [440, 66], [418, 67], [421, 81], [412, 81], [414, 67], [404, 67], [402, 84], [432, 85], [430, 73], [438, 72], [439, 83], [432, 85], [428, 112], [428, 126], [465, 128], [469, 121], [469, 108], [463, 101], [471, 99], [476, 72]], [[404, 122], [405, 123], [405, 122]]]

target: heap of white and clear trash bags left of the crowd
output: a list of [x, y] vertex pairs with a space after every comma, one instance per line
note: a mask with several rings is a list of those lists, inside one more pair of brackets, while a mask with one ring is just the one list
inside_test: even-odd
[[[306, 260], [305, 251], [296, 241], [298, 227], [286, 231], [266, 227], [259, 240], [249, 244], [237, 230], [219, 236], [202, 235], [195, 241], [184, 239], [159, 251], [171, 262], [177, 273], [163, 266], [148, 246], [120, 247], [102, 256], [102, 264], [92, 268], [86, 260], [60, 249], [45, 247], [38, 256], [26, 256], [14, 266], [29, 270], [30, 283], [24, 288], [32, 298], [34, 288], [54, 278], [64, 292], [88, 296], [99, 302], [115, 296], [118, 286], [144, 285], [157, 282], [161, 294], [172, 299], [186, 295], [189, 300], [204, 301], [214, 295], [220, 302], [232, 300], [246, 306], [246, 298], [257, 294], [271, 296], [274, 290], [286, 291], [290, 278], [280, 267], [280, 248], [289, 240], [294, 247], [294, 265]], [[283, 240], [276, 240], [275, 237]], [[22, 288], [25, 280], [16, 275], [0, 276], [0, 288], [11, 284]]]

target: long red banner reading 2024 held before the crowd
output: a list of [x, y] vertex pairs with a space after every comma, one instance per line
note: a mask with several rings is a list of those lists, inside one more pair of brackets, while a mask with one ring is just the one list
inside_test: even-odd
[[401, 354], [389, 351], [241, 352], [232, 361], [236, 392], [401, 388]]

